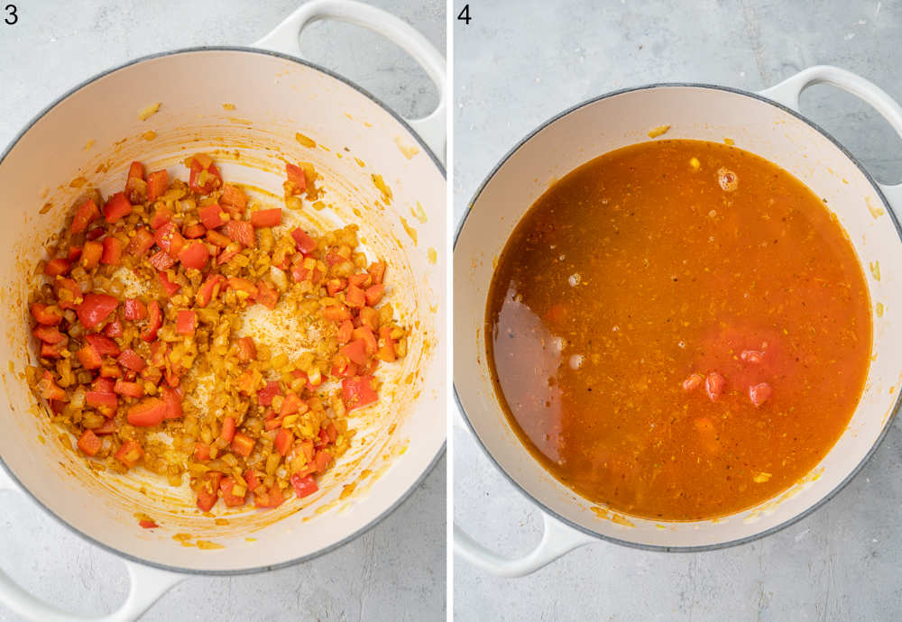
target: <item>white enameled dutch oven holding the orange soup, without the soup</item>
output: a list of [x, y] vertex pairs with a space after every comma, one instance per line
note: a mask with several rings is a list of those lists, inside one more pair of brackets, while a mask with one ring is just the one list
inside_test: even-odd
[[[618, 91], [577, 105], [520, 142], [483, 182], [457, 234], [454, 251], [454, 380], [465, 424], [499, 469], [544, 513], [545, 533], [529, 555], [506, 559], [455, 528], [456, 552], [488, 572], [533, 572], [583, 544], [606, 540], [656, 551], [705, 551], [749, 542], [791, 525], [823, 505], [861, 469], [887, 433], [902, 388], [902, 242], [893, 207], [902, 185], [876, 183], [851, 154], [798, 114], [799, 94], [826, 82], [873, 105], [902, 134], [902, 109], [867, 80], [813, 67], [759, 94], [695, 84]], [[874, 310], [873, 358], [861, 402], [822, 462], [784, 494], [717, 520], [671, 522], [621, 517], [559, 483], [520, 443], [492, 389], [485, 356], [484, 311], [493, 261], [520, 217], [547, 189], [586, 160], [647, 141], [669, 124], [667, 138], [722, 142], [801, 179], [839, 218], [858, 252]], [[879, 271], [869, 266], [878, 266]], [[897, 270], [900, 270], [897, 272]]]

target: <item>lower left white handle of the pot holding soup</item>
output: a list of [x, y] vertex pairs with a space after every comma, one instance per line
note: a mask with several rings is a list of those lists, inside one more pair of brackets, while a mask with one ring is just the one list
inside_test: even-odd
[[454, 526], [454, 551], [457, 555], [485, 572], [502, 577], [522, 577], [554, 562], [584, 544], [595, 542], [593, 537], [566, 526], [542, 513], [543, 531], [538, 546], [523, 557], [510, 559], [494, 553], [476, 542], [461, 527]]

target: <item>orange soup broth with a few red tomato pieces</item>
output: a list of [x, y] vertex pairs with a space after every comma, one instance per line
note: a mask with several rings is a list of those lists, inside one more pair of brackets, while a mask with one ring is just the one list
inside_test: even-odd
[[827, 207], [713, 142], [643, 142], [555, 183], [511, 234], [486, 308], [522, 442], [637, 517], [732, 514], [803, 478], [870, 364], [868, 288]]

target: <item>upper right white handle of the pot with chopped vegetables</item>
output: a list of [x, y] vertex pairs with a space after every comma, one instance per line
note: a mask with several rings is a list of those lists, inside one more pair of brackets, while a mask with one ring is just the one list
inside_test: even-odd
[[254, 47], [300, 56], [300, 33], [309, 23], [322, 19], [364, 26], [397, 43], [426, 69], [438, 89], [438, 106], [422, 119], [404, 119], [428, 144], [439, 160], [445, 161], [447, 85], [445, 59], [417, 29], [390, 13], [353, 0], [313, 0], [290, 14]]

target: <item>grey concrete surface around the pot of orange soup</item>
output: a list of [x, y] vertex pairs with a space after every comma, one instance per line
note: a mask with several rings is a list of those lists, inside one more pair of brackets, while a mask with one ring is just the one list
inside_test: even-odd
[[[898, 2], [700, 0], [470, 2], [455, 20], [455, 214], [526, 133], [564, 108], [657, 81], [758, 90], [832, 63], [902, 101]], [[455, 0], [454, 13], [463, 2]], [[813, 87], [802, 112], [881, 181], [902, 180], [902, 141], [870, 108]], [[538, 543], [538, 512], [474, 441], [454, 436], [455, 519], [499, 552]], [[778, 535], [713, 553], [591, 544], [517, 580], [455, 564], [469, 620], [898, 620], [902, 421], [851, 485]]]

